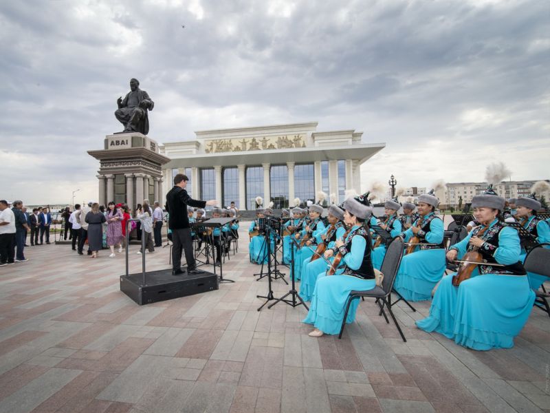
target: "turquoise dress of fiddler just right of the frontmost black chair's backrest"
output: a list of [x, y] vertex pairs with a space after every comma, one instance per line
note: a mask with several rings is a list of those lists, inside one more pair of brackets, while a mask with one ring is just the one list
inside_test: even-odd
[[[445, 273], [445, 248], [443, 248], [443, 221], [430, 212], [422, 220], [418, 235], [421, 243], [438, 246], [417, 246], [415, 251], [404, 255], [395, 277], [394, 288], [408, 301], [423, 301], [432, 297], [432, 289]], [[415, 222], [415, 226], [418, 224]], [[405, 241], [415, 234], [412, 229], [403, 233]]]

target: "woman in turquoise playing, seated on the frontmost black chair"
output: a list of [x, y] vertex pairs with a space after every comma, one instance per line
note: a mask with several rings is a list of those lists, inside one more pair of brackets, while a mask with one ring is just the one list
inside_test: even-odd
[[[364, 224], [372, 214], [367, 205], [369, 200], [364, 195], [348, 198], [344, 201], [344, 220], [348, 231], [343, 239], [335, 242], [338, 254], [334, 263], [340, 261], [335, 275], [319, 275], [311, 297], [311, 307], [304, 323], [313, 324], [315, 329], [311, 337], [323, 334], [338, 334], [347, 299], [352, 290], [370, 290], [375, 288], [375, 274], [371, 262], [371, 235]], [[327, 250], [327, 256], [334, 250]], [[355, 320], [359, 300], [354, 300], [346, 319], [347, 323]]]

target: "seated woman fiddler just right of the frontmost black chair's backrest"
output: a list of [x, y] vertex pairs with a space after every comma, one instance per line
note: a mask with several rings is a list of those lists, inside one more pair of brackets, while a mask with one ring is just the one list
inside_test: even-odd
[[419, 218], [402, 234], [413, 245], [401, 260], [394, 284], [397, 293], [408, 301], [430, 299], [446, 268], [443, 221], [434, 213], [439, 200], [432, 189], [420, 195], [418, 201]]

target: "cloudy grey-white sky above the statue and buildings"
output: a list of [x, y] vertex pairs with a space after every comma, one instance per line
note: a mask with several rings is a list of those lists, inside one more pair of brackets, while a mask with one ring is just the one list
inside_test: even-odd
[[131, 77], [158, 142], [317, 121], [386, 142], [362, 189], [550, 178], [549, 33], [547, 0], [2, 1], [0, 198], [98, 198]]

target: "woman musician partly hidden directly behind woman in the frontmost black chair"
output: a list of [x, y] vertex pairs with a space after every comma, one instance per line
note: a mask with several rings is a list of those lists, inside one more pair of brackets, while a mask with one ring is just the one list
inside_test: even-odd
[[[302, 264], [302, 280], [300, 282], [300, 297], [304, 301], [311, 301], [311, 295], [314, 293], [315, 284], [320, 274], [325, 275], [327, 268], [327, 260], [333, 260], [333, 251], [325, 256], [325, 252], [334, 248], [336, 240], [342, 239], [346, 232], [346, 224], [344, 223], [344, 210], [337, 205], [332, 204], [329, 207], [329, 226], [320, 233], [317, 248], [312, 248], [313, 255], [304, 260]], [[315, 252], [313, 252], [315, 251]], [[323, 255], [320, 257], [319, 255]], [[330, 257], [329, 257], [330, 255]]]

